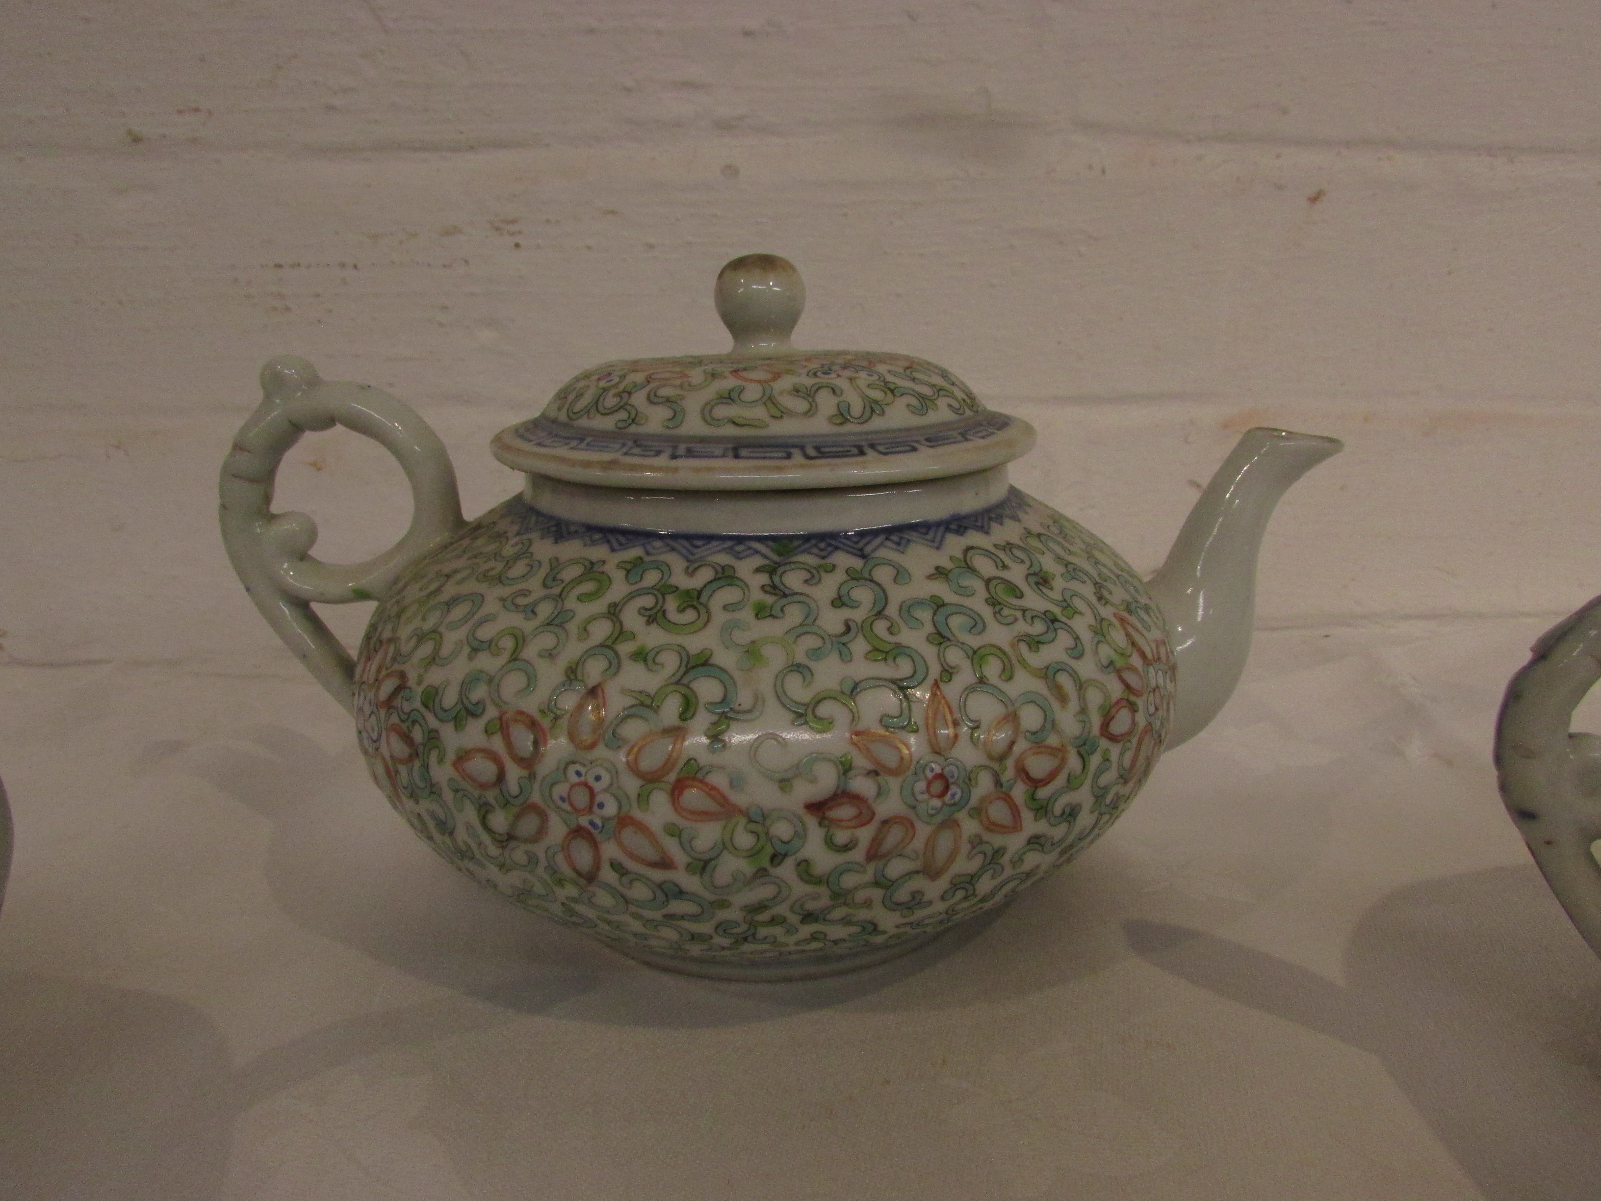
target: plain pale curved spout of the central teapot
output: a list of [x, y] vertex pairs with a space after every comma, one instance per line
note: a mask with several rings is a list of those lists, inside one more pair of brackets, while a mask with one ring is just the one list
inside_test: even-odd
[[1343, 447], [1318, 434], [1246, 431], [1185, 519], [1150, 584], [1178, 661], [1167, 749], [1217, 716], [1246, 669], [1257, 615], [1257, 551], [1273, 508], [1290, 484]]

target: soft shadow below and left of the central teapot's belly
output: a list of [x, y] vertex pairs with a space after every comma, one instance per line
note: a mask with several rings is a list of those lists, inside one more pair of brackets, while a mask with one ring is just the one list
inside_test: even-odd
[[301, 733], [264, 727], [194, 749], [184, 769], [271, 823], [266, 879], [296, 926], [524, 1014], [671, 1028], [773, 1020], [892, 990], [937, 969], [1002, 916], [983, 914], [900, 959], [823, 980], [674, 975], [525, 913], [455, 871], [389, 810], [354, 748], [327, 754]]

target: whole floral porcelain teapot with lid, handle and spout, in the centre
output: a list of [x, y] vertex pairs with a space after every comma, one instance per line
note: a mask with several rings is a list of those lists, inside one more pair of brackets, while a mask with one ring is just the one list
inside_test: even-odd
[[[525, 482], [471, 524], [407, 405], [275, 359], [223, 535], [440, 855], [647, 964], [794, 980], [909, 951], [1105, 833], [1228, 700], [1268, 516], [1340, 444], [1247, 432], [1146, 584], [1009, 487], [1028, 423], [924, 359], [794, 349], [784, 259], [735, 259], [716, 301], [732, 351], [578, 375], [495, 439]], [[335, 423], [416, 501], [352, 567], [269, 509]], [[311, 610], [346, 600], [378, 600], [354, 661]]]

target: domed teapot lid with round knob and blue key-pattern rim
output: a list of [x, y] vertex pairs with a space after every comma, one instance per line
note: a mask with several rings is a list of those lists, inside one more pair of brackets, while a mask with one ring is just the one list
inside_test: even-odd
[[602, 487], [837, 488], [961, 476], [1034, 445], [1033, 426], [927, 359], [791, 346], [805, 287], [788, 259], [736, 258], [714, 295], [732, 351], [591, 367], [496, 434], [495, 458]]

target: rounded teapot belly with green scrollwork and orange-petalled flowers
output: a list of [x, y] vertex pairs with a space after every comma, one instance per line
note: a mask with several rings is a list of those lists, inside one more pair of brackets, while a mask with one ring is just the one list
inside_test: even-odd
[[792, 536], [517, 496], [378, 607], [355, 706], [379, 788], [474, 879], [658, 966], [797, 978], [1073, 858], [1150, 773], [1172, 685], [1134, 570], [1015, 490]]

